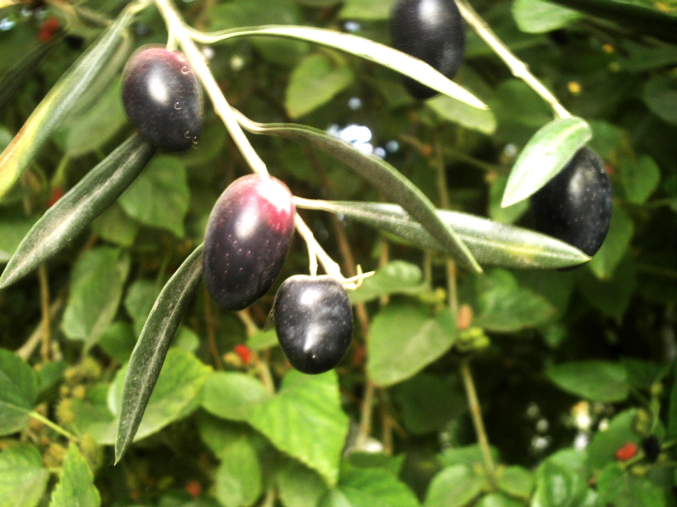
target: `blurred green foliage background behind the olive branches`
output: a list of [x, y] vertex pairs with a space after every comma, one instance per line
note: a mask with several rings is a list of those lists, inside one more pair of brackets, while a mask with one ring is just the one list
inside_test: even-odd
[[[387, 43], [390, 3], [196, 0], [180, 8], [204, 30], [304, 24]], [[595, 0], [571, 10], [578, 4], [473, 1], [592, 126], [590, 146], [615, 195], [609, 236], [592, 262], [565, 272], [460, 272], [457, 319], [445, 308], [441, 256], [341, 215], [303, 212], [345, 274], [355, 263], [377, 270], [351, 293], [358, 325], [339, 368], [316, 377], [288, 368], [274, 332], [263, 331], [271, 295], [238, 315], [220, 312], [200, 285], [138, 441], [113, 467], [135, 341], [162, 286], [202, 242], [218, 195], [248, 172], [207, 107], [195, 149], [156, 155], [39, 276], [0, 291], [0, 506], [674, 506], [677, 48], [632, 9], [665, 20], [676, 7]], [[15, 95], [0, 90], [0, 148], [122, 8], [119, 0], [0, 1], [0, 72], [28, 51], [47, 51], [24, 59]], [[49, 32], [51, 18], [67, 30]], [[116, 75], [135, 47], [167, 41], [152, 6], [132, 28], [121, 55], [0, 201], [0, 262], [131, 133]], [[500, 201], [517, 155], [552, 116], [471, 30], [456, 80], [491, 112], [449, 97], [416, 102], [395, 73], [309, 43], [236, 39], [204, 52], [227, 99], [250, 118], [339, 135], [385, 158], [438, 206], [441, 165], [451, 208], [531, 223], [528, 201]], [[305, 145], [251, 140], [295, 195], [380, 200]], [[280, 281], [305, 272], [297, 239]], [[51, 346], [40, 350], [45, 325]], [[468, 358], [495, 470], [475, 443], [458, 373]], [[663, 445], [655, 463], [642, 450], [649, 435]]]

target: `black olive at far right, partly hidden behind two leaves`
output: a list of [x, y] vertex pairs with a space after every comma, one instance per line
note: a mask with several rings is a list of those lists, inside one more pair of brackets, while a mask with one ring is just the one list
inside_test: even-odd
[[531, 196], [536, 231], [594, 256], [611, 221], [611, 183], [592, 149], [577, 151], [571, 162]]

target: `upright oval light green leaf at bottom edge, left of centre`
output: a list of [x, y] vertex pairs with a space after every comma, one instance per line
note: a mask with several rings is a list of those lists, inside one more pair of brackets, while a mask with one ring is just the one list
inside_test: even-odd
[[216, 473], [216, 498], [223, 507], [249, 507], [263, 490], [261, 464], [256, 450], [246, 438], [239, 438], [223, 449]]

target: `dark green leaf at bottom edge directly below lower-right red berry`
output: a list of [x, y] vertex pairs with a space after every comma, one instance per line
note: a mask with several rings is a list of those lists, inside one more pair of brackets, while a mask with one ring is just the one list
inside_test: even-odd
[[603, 468], [597, 490], [600, 500], [614, 507], [665, 507], [665, 491], [659, 485], [621, 470], [617, 463]]

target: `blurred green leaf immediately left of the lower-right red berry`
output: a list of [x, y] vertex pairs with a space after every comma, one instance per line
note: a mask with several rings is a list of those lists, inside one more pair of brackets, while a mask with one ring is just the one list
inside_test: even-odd
[[640, 445], [642, 435], [634, 429], [637, 409], [621, 412], [609, 423], [604, 431], [598, 431], [588, 445], [588, 466], [592, 470], [601, 470], [607, 463], [616, 461], [616, 451], [628, 442]]

